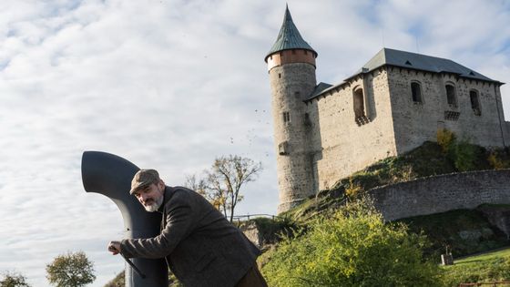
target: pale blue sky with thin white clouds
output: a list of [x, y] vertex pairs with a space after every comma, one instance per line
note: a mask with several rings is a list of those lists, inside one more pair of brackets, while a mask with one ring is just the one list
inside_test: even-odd
[[264, 56], [286, 3], [319, 54], [319, 82], [342, 82], [385, 46], [510, 83], [505, 0], [1, 1], [0, 272], [46, 287], [46, 264], [69, 251], [94, 262], [90, 286], [124, 269], [106, 249], [124, 236], [120, 212], [82, 185], [86, 150], [158, 169], [168, 185], [219, 156], [260, 161], [236, 213], [275, 214]]

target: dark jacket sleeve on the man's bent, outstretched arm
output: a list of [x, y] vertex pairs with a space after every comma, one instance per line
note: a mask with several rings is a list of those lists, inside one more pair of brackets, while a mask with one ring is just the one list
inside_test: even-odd
[[[177, 199], [176, 199], [177, 198]], [[163, 258], [168, 256], [180, 241], [189, 236], [193, 226], [193, 209], [187, 200], [174, 196], [167, 202], [167, 224], [161, 234], [149, 239], [126, 239], [120, 242], [120, 250], [126, 257]]]

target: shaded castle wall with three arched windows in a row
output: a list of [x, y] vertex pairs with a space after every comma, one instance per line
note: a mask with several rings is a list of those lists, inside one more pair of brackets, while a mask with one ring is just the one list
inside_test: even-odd
[[[425, 140], [435, 141], [438, 128], [447, 128], [458, 138], [480, 146], [504, 146], [505, 119], [495, 84], [401, 67], [388, 67], [388, 80], [398, 154], [419, 147]], [[413, 102], [413, 81], [421, 86], [421, 103]], [[446, 84], [455, 87], [456, 107], [447, 102]], [[479, 116], [471, 106], [472, 89], [478, 92]], [[447, 117], [445, 113], [456, 116]]]

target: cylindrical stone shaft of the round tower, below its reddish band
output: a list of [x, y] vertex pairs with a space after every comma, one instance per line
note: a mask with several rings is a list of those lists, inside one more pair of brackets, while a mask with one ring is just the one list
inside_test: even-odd
[[[292, 63], [270, 69], [272, 115], [277, 159], [279, 212], [314, 194], [307, 148], [303, 98], [315, 87], [315, 67]], [[284, 117], [286, 113], [288, 116]]]

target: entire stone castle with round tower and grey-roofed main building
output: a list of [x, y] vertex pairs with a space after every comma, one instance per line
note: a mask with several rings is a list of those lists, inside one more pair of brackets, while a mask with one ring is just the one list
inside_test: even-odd
[[510, 141], [500, 86], [452, 60], [382, 48], [342, 83], [317, 84], [317, 52], [286, 8], [265, 56], [270, 75], [279, 212], [439, 128], [484, 147]]

